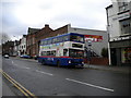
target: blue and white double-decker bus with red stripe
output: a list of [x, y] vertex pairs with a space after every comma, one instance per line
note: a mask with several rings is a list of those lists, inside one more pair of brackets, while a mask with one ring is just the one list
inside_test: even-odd
[[40, 40], [41, 64], [83, 66], [84, 35], [69, 33]]

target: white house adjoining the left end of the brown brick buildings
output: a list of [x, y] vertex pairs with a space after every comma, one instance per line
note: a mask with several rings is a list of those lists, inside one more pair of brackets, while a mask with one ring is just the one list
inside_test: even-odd
[[26, 54], [26, 35], [20, 39], [19, 56]]

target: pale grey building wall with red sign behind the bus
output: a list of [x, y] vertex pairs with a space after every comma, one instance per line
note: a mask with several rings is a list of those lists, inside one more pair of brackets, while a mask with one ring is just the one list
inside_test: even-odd
[[108, 48], [108, 34], [106, 30], [71, 27], [71, 25], [69, 24], [68, 33], [78, 33], [85, 35], [85, 46], [88, 48], [87, 42], [88, 40], [92, 40], [91, 50], [99, 57], [102, 57], [102, 49]]

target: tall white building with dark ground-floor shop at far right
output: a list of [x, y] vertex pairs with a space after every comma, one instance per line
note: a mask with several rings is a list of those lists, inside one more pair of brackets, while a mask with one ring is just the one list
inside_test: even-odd
[[109, 33], [110, 64], [131, 63], [131, 0], [112, 0], [106, 8]]

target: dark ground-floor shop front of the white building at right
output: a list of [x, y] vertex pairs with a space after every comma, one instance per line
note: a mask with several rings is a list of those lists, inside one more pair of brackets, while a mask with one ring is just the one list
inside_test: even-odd
[[109, 44], [111, 65], [131, 65], [131, 39]]

